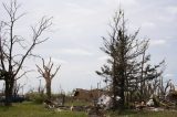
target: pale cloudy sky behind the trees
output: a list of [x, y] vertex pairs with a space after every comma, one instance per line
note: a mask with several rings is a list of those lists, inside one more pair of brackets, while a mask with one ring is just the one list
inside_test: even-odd
[[[0, 0], [8, 2], [9, 0]], [[52, 26], [43, 35], [50, 38], [37, 46], [33, 53], [44, 60], [52, 57], [55, 67], [61, 70], [52, 81], [52, 91], [72, 92], [74, 88], [95, 88], [104, 83], [95, 74], [105, 63], [107, 56], [100, 50], [102, 36], [107, 36], [108, 24], [119, 8], [127, 19], [128, 32], [140, 29], [139, 39], [150, 39], [149, 53], [152, 62], [166, 60], [164, 77], [177, 83], [177, 1], [176, 0], [18, 0], [19, 13], [25, 15], [15, 25], [15, 33], [30, 40], [30, 26], [43, 17], [53, 17]], [[0, 20], [7, 19], [0, 6]], [[40, 79], [35, 64], [38, 59], [27, 60], [24, 66], [35, 72], [29, 73], [18, 82], [24, 89], [35, 88]], [[0, 83], [2, 86], [2, 82]]]

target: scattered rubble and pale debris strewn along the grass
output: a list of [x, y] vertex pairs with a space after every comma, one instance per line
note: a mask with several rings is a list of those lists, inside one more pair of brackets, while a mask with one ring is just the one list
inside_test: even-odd
[[[101, 95], [96, 102], [93, 103], [92, 106], [63, 106], [63, 104], [59, 100], [45, 100], [44, 107], [49, 109], [53, 109], [54, 111], [85, 111], [88, 117], [106, 117], [105, 110], [108, 110], [113, 107], [113, 98], [110, 95], [103, 94]], [[116, 97], [117, 100], [121, 97]], [[135, 110], [147, 110], [147, 111], [164, 111], [164, 110], [175, 110], [176, 103], [169, 100], [160, 100], [159, 106], [156, 105], [156, 100], [154, 98], [149, 98], [147, 102], [135, 102], [134, 103]]]

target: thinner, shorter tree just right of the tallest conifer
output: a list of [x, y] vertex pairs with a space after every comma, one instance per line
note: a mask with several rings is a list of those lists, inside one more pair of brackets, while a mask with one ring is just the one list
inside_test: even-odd
[[[148, 95], [146, 95], [147, 93], [147, 86], [152, 85], [153, 86], [153, 91], [156, 91], [156, 88], [159, 85], [158, 82], [158, 77], [162, 76], [163, 72], [162, 70], [159, 70], [164, 64], [165, 64], [165, 60], [163, 60], [162, 62], [159, 62], [156, 65], [152, 65], [148, 62], [150, 61], [150, 54], [146, 54], [147, 50], [148, 50], [148, 44], [149, 41], [147, 41], [146, 43], [144, 43], [143, 45], [143, 53], [142, 53], [142, 61], [139, 70], [140, 70], [140, 74], [139, 74], [139, 93], [140, 93], [140, 97], [139, 99], [146, 100], [148, 99]], [[154, 94], [154, 92], [153, 92]]]

